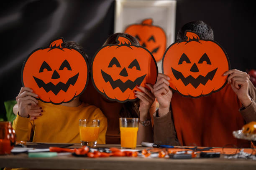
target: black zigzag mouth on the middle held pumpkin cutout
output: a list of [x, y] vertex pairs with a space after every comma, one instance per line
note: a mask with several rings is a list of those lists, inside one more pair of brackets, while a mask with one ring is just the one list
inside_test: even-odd
[[133, 90], [136, 85], [141, 85], [141, 83], [143, 82], [144, 78], [147, 75], [147, 74], [145, 74], [141, 77], [138, 77], [134, 81], [127, 80], [126, 82], [122, 82], [120, 79], [114, 81], [109, 74], [107, 74], [106, 72], [104, 72], [102, 70], [101, 70], [101, 74], [102, 74], [102, 77], [105, 80], [105, 82], [110, 82], [110, 85], [113, 89], [119, 87], [119, 89], [122, 92], [125, 92], [125, 90], [127, 90], [128, 88]]

